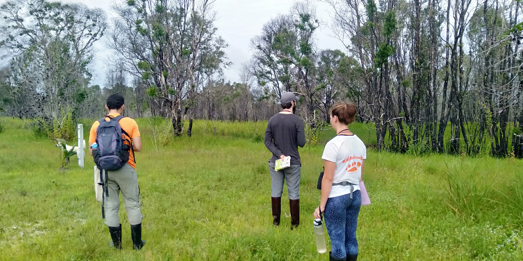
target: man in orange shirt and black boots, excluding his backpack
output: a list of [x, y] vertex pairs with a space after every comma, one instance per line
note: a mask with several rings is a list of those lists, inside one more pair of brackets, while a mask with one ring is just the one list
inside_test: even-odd
[[[120, 94], [112, 94], [107, 98], [106, 110], [108, 111], [105, 120], [110, 120], [110, 117], [116, 117], [123, 113], [124, 99]], [[110, 116], [110, 117], [109, 117]], [[123, 117], [119, 121], [122, 130], [128, 134], [135, 152], [142, 150], [142, 139], [140, 131], [136, 122], [129, 117]], [[100, 123], [96, 121], [91, 127], [89, 134], [89, 153], [93, 155], [93, 144], [96, 145], [96, 131]], [[123, 134], [122, 136], [126, 135]], [[125, 138], [125, 137], [122, 137]], [[126, 143], [124, 143], [126, 144]], [[145, 241], [142, 240], [142, 212], [140, 210], [140, 187], [138, 186], [138, 179], [136, 173], [136, 160], [134, 153], [129, 153], [128, 164], [124, 164], [121, 169], [108, 171], [106, 186], [109, 191], [109, 196], [105, 198], [105, 224], [109, 227], [111, 234], [112, 246], [121, 249], [122, 241], [122, 224], [118, 217], [118, 210], [120, 209], [120, 191], [122, 192], [123, 202], [126, 206], [127, 217], [131, 224], [131, 239], [133, 241], [133, 249], [140, 250]]]

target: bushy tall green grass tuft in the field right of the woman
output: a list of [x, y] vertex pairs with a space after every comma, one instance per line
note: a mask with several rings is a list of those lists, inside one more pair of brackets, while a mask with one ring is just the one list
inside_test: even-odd
[[447, 166], [445, 181], [449, 193], [449, 202], [446, 202], [458, 216], [470, 217], [473, 220], [481, 213], [481, 209], [492, 203], [485, 197], [492, 187], [484, 175], [476, 171], [476, 166], [465, 164], [463, 161]]

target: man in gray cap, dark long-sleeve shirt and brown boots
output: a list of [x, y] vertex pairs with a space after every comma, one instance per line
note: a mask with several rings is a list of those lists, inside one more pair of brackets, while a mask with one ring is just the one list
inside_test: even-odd
[[[285, 92], [281, 96], [283, 111], [272, 116], [265, 132], [265, 147], [272, 152], [269, 160], [271, 177], [271, 203], [272, 222], [275, 226], [280, 224], [281, 194], [283, 183], [287, 180], [289, 191], [289, 206], [291, 212], [291, 229], [300, 224], [300, 169], [301, 159], [298, 146], [305, 146], [305, 129], [303, 121], [294, 114], [298, 97], [292, 92]], [[291, 157], [289, 168], [276, 171], [275, 161]]]

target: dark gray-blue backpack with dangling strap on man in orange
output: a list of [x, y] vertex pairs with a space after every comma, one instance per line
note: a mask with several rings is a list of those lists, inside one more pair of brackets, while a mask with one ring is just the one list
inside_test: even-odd
[[[109, 120], [106, 121], [105, 118]], [[120, 126], [120, 120], [124, 118], [121, 115], [116, 117], [106, 116], [100, 118], [98, 122], [100, 125], [96, 128], [96, 149], [93, 149], [93, 159], [96, 166], [100, 170], [100, 183], [104, 193], [102, 194], [101, 215], [105, 218], [105, 197], [109, 196], [109, 189], [107, 187], [108, 171], [121, 169], [129, 161], [129, 152], [132, 151], [134, 156], [134, 149], [132, 146], [132, 139], [126, 131]], [[122, 134], [127, 137], [122, 137]], [[124, 144], [127, 141], [129, 144]], [[134, 160], [136, 162], [136, 159]], [[105, 179], [103, 171], [105, 170]]]

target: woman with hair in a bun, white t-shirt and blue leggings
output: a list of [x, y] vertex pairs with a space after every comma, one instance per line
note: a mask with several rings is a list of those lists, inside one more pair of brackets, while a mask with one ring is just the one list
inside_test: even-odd
[[322, 156], [325, 172], [321, 204], [314, 211], [314, 217], [321, 218], [320, 213], [324, 215], [332, 244], [330, 260], [355, 261], [358, 258], [359, 182], [367, 149], [361, 139], [349, 131], [348, 125], [354, 122], [355, 115], [354, 103], [339, 102], [332, 107], [331, 124], [337, 135], [325, 145]]

